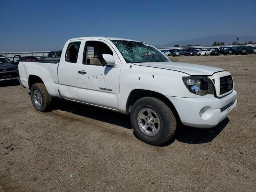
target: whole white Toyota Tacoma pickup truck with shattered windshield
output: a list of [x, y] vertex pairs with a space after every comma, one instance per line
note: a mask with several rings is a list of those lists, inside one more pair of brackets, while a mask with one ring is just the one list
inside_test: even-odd
[[70, 39], [59, 62], [21, 61], [19, 73], [36, 110], [48, 111], [60, 98], [130, 114], [136, 136], [153, 145], [170, 140], [179, 122], [211, 128], [236, 107], [226, 70], [170, 62], [135, 40]]

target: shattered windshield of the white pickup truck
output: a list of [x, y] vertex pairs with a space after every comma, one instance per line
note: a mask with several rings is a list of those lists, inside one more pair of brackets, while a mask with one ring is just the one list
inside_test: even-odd
[[170, 61], [152, 45], [136, 41], [112, 40], [127, 63]]

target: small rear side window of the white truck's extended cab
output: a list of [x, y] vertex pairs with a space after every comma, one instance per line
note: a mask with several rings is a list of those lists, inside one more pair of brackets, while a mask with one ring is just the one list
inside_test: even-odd
[[76, 63], [77, 58], [78, 58], [80, 44], [81, 44], [80, 41], [71, 42], [70, 44], [68, 44], [68, 48], [67, 48], [66, 55], [65, 55], [65, 61], [71, 62], [71, 63]]

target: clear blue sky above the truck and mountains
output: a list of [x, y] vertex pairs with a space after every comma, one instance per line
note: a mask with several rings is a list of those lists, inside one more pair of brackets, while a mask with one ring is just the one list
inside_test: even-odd
[[81, 36], [154, 45], [256, 35], [256, 0], [0, 0], [0, 52], [62, 49]]

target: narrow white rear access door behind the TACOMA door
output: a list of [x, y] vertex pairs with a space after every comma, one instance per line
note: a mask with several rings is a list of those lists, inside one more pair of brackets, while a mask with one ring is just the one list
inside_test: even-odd
[[77, 68], [80, 55], [83, 54], [80, 45], [81, 40], [67, 42], [63, 48], [66, 53], [60, 58], [58, 67], [60, 94], [70, 100], [78, 100]]

